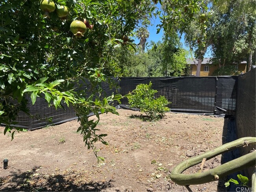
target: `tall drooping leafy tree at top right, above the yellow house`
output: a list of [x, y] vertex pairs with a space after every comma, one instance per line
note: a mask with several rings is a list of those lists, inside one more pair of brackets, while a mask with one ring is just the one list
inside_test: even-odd
[[215, 1], [213, 10], [216, 18], [211, 37], [215, 63], [219, 62], [221, 67], [246, 60], [250, 70], [255, 62], [255, 2]]

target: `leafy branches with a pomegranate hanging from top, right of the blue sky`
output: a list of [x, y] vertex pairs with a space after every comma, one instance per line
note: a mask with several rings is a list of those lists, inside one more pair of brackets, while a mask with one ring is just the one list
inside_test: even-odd
[[189, 33], [191, 22], [195, 23], [199, 36], [194, 40], [200, 39], [199, 47], [205, 46], [207, 20], [200, 20], [200, 15], [205, 14], [210, 17], [211, 12], [208, 9], [210, 0], [206, 1], [176, 1], [163, 0], [161, 22], [159, 26], [163, 27], [165, 33], [171, 35], [174, 31], [179, 30], [180, 34]]

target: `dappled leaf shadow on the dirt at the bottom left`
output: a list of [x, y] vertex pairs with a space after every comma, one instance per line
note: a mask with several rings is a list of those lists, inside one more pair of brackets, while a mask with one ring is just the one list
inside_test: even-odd
[[85, 182], [85, 172], [76, 171], [46, 175], [40, 167], [23, 173], [18, 170], [9, 177], [0, 177], [0, 191], [101, 191], [113, 187], [113, 180]]

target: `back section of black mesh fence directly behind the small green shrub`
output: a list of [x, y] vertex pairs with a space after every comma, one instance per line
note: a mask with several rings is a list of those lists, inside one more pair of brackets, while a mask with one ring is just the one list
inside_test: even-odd
[[[136, 85], [152, 82], [158, 90], [156, 97], [165, 96], [174, 112], [235, 115], [236, 76], [178, 77], [178, 78], [121, 78], [119, 92], [132, 92]], [[127, 98], [122, 105], [128, 105]], [[122, 106], [121, 105], [121, 106]]]

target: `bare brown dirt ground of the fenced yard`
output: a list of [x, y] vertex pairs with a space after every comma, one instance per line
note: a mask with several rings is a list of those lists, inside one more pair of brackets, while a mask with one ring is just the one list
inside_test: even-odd
[[[158, 122], [142, 122], [132, 118], [140, 112], [118, 112], [120, 116], [100, 115], [99, 132], [108, 134], [109, 142], [96, 143], [98, 155], [106, 158], [100, 164], [76, 133], [77, 121], [16, 133], [13, 141], [0, 127], [0, 191], [187, 191], [169, 179], [170, 171], [187, 158], [222, 145], [223, 118], [167, 113]], [[9, 167], [3, 169], [6, 158]], [[220, 156], [210, 159], [204, 170], [220, 163]], [[199, 166], [186, 172], [195, 173]], [[224, 191], [224, 182], [190, 187]]]

